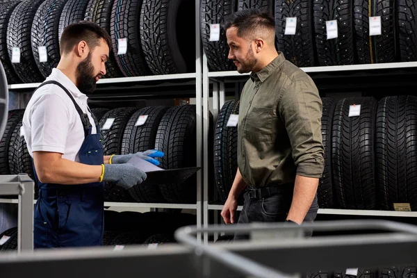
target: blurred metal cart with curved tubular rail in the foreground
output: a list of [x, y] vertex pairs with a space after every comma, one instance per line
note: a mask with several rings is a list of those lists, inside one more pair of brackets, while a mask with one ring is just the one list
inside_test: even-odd
[[[302, 238], [315, 231], [386, 231], [379, 234]], [[203, 245], [195, 234], [248, 232], [259, 240]], [[268, 235], [268, 240], [265, 238]], [[288, 237], [293, 237], [288, 239]], [[271, 239], [272, 237], [272, 239]], [[177, 231], [181, 245], [45, 250], [0, 256], [1, 277], [293, 277], [295, 273], [345, 268], [376, 268], [417, 261], [417, 227], [387, 221], [320, 222], [304, 227], [256, 224], [240, 227], [185, 227]], [[275, 238], [275, 239], [273, 239]]]

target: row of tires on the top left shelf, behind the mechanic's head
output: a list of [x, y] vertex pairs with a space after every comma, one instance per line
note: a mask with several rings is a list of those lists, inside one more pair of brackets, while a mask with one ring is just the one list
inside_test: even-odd
[[[195, 27], [186, 21], [194, 14], [193, 0], [3, 1], [0, 59], [9, 84], [42, 82], [58, 65], [64, 28], [87, 20], [111, 35], [104, 77], [195, 72]], [[119, 46], [122, 39], [126, 45]], [[14, 47], [19, 63], [12, 63]], [[38, 47], [46, 47], [47, 62], [40, 62]]]

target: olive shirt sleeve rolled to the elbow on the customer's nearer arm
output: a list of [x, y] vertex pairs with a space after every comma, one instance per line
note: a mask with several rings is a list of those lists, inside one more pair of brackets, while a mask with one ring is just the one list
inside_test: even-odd
[[284, 90], [277, 110], [288, 132], [297, 174], [322, 177], [322, 101], [316, 85], [313, 81], [293, 81]]

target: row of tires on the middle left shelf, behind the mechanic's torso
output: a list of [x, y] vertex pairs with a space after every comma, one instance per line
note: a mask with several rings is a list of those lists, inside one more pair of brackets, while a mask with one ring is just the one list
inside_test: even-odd
[[[147, 149], [164, 152], [158, 158], [163, 169], [177, 169], [196, 165], [195, 106], [151, 106], [145, 108], [93, 108], [99, 126], [113, 122], [101, 130], [104, 155], [132, 154]], [[26, 141], [20, 136], [24, 110], [9, 112], [6, 130], [0, 141], [0, 174], [26, 173], [33, 179], [33, 160]], [[139, 118], [145, 116], [145, 122]], [[107, 124], [108, 125], [108, 124]], [[195, 203], [195, 177], [181, 184], [133, 186], [125, 190], [114, 183], [104, 187], [106, 202], [168, 202]], [[35, 197], [37, 197], [35, 190]]]

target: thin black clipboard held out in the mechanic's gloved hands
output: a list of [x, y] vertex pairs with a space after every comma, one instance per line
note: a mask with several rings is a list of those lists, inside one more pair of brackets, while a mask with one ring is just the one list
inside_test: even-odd
[[200, 169], [200, 167], [186, 167], [146, 172], [147, 178], [138, 186], [158, 186], [166, 183], [182, 183]]

